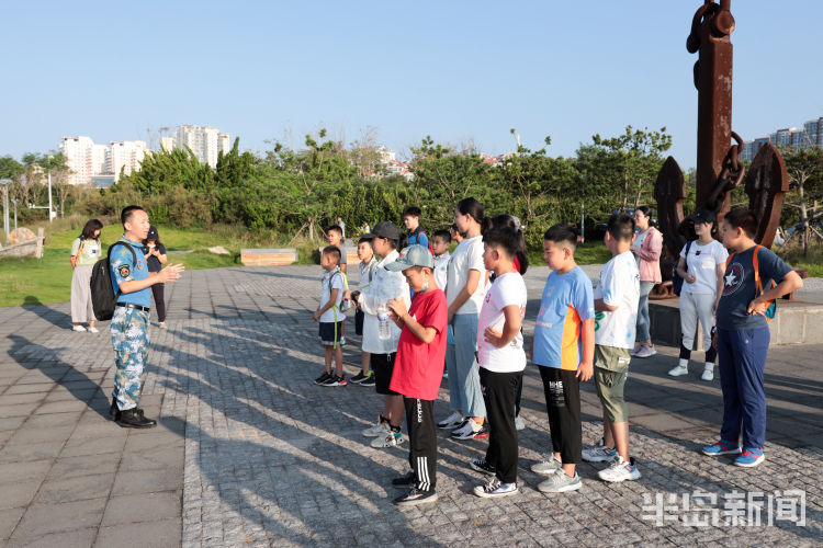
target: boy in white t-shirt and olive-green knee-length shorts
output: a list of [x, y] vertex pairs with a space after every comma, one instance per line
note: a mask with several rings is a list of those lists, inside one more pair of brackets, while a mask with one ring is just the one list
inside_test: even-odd
[[598, 477], [635, 480], [640, 471], [629, 456], [629, 410], [623, 397], [640, 300], [640, 272], [631, 252], [634, 220], [625, 214], [609, 218], [604, 241], [611, 260], [595, 289], [595, 386], [602, 404], [604, 437], [583, 450], [588, 463], [610, 461]]

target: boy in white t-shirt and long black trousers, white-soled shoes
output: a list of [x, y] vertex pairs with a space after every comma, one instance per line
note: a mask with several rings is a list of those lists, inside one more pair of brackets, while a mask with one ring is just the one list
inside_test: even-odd
[[483, 263], [496, 278], [483, 299], [477, 320], [477, 362], [486, 416], [488, 449], [484, 458], [471, 461], [478, 472], [493, 476], [474, 494], [483, 498], [517, 493], [517, 427], [515, 399], [526, 367], [523, 335], [526, 284], [514, 264], [519, 246], [517, 230], [500, 227], [483, 235]]

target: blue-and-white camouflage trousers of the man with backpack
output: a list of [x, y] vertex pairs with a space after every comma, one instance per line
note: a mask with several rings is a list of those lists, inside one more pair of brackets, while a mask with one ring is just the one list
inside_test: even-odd
[[140, 377], [148, 355], [148, 312], [117, 307], [112, 318], [114, 391], [121, 411], [134, 409], [140, 399]]

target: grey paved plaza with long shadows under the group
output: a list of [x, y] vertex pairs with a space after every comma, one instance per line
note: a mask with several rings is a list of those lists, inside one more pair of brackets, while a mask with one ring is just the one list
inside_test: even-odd
[[[587, 272], [596, 275], [597, 269]], [[546, 275], [527, 275], [533, 318]], [[823, 543], [823, 344], [773, 347], [767, 460], [746, 470], [698, 454], [718, 437], [719, 380], [666, 372], [677, 349], [633, 359], [627, 396], [642, 478], [546, 495], [529, 467], [550, 448], [539, 374], [526, 372], [520, 493], [472, 494], [485, 441], [438, 437], [438, 493], [397, 509], [408, 445], [360, 431], [382, 397], [312, 385], [322, 349], [311, 311], [319, 266], [187, 272], [167, 285], [169, 329], [151, 328], [148, 431], [105, 420], [108, 322], [70, 331], [67, 304], [0, 309], [0, 546], [813, 546]], [[352, 284], [357, 282], [352, 275]], [[153, 312], [154, 317], [154, 312]], [[353, 323], [353, 322], [351, 322]], [[347, 374], [359, 339], [347, 327]], [[821, 338], [823, 343], [823, 338]], [[696, 353], [695, 357], [701, 357]], [[436, 416], [448, 413], [446, 381]], [[600, 437], [584, 386], [584, 443]], [[798, 522], [802, 520], [802, 522]]]

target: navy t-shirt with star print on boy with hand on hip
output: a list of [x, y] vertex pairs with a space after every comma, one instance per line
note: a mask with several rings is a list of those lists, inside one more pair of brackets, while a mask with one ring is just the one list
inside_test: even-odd
[[[747, 313], [748, 304], [757, 298], [754, 279], [755, 248], [735, 253], [729, 262], [723, 276], [723, 295], [718, 304], [718, 329], [742, 331], [762, 329], [768, 326], [766, 317], [759, 313]], [[771, 287], [771, 281], [779, 283], [791, 271], [782, 260], [766, 248], [757, 251], [757, 266], [763, 290]]]

